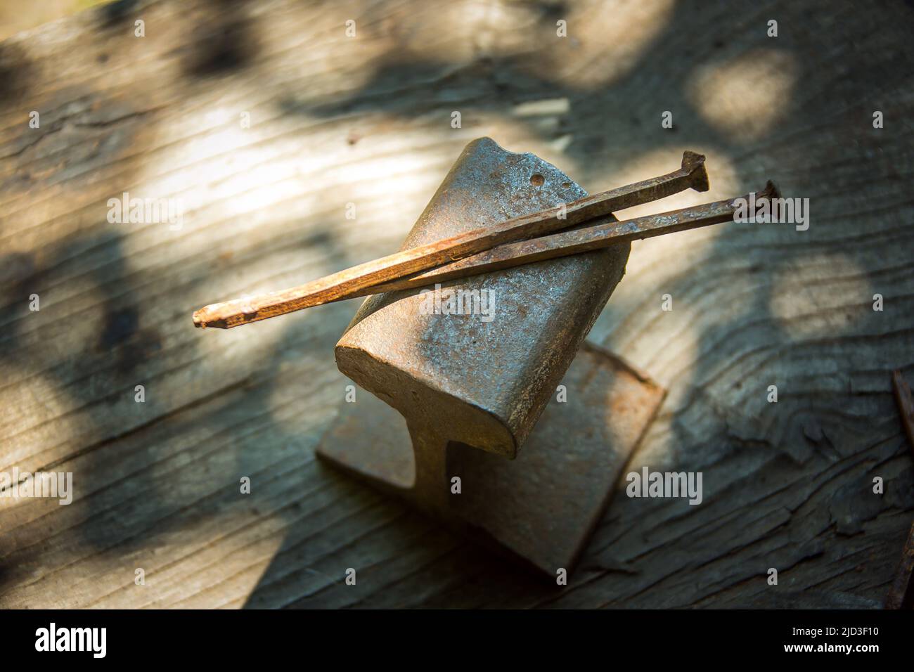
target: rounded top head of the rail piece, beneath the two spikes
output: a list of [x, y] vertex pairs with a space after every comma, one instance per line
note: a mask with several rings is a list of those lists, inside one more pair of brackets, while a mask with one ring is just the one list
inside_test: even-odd
[[[554, 207], [586, 192], [531, 154], [468, 144], [403, 248]], [[410, 424], [514, 457], [622, 279], [630, 246], [444, 283], [494, 295], [494, 318], [422, 315], [419, 292], [367, 298], [336, 346], [345, 375]]]

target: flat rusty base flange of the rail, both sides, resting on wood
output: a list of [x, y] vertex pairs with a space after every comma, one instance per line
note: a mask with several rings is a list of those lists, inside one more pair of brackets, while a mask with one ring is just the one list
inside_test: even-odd
[[[605, 510], [664, 389], [609, 353], [585, 344], [562, 378], [568, 399], [552, 400], [516, 460], [466, 445], [431, 446], [462, 492], [440, 484], [443, 507], [409, 487], [414, 464], [409, 431], [397, 411], [369, 394], [344, 403], [317, 453], [387, 494], [443, 519], [484, 543], [496, 543], [555, 577], [571, 570]], [[433, 435], [413, 440], [435, 442]]]

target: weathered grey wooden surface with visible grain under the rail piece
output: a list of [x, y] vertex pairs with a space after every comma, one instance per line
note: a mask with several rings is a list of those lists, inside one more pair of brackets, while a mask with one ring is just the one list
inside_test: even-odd
[[[890, 378], [914, 378], [912, 23], [900, 2], [196, 0], [0, 42], [0, 471], [75, 487], [0, 500], [0, 606], [878, 605], [914, 514]], [[622, 219], [768, 177], [810, 198], [806, 231], [634, 244], [590, 340], [669, 390], [632, 468], [702, 471], [704, 503], [620, 489], [564, 588], [315, 463], [355, 302], [188, 316], [396, 250], [482, 135], [590, 192], [707, 155], [709, 195]], [[125, 191], [182, 199], [181, 227], [109, 223]]]

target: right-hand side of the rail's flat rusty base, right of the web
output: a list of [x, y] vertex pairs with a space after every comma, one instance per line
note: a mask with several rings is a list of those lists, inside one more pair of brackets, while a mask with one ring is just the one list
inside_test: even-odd
[[622, 467], [664, 399], [664, 389], [585, 344], [514, 461], [452, 445], [462, 479], [452, 509], [474, 528], [555, 577], [577, 564]]

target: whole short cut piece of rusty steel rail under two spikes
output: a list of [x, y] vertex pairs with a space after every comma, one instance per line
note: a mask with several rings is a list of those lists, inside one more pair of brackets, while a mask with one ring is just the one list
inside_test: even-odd
[[[555, 166], [483, 138], [466, 147], [404, 248], [582, 196]], [[368, 298], [337, 344], [337, 366], [402, 418], [360, 395], [318, 454], [553, 576], [570, 569], [664, 394], [601, 351], [574, 359], [629, 250], [447, 285], [494, 293], [490, 321], [428, 313], [415, 291]], [[568, 400], [534, 429], [560, 381]]]

